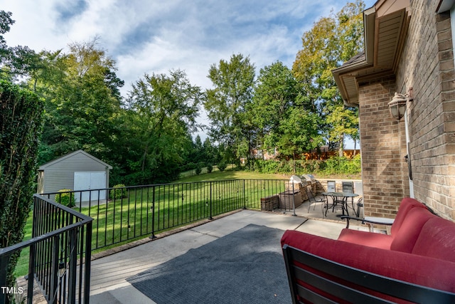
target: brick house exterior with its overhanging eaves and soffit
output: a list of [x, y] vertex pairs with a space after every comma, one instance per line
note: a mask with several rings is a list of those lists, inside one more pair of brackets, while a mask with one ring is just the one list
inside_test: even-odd
[[[366, 216], [394, 217], [412, 196], [455, 219], [454, 5], [377, 1], [364, 11], [365, 52], [333, 70], [345, 103], [359, 107]], [[410, 94], [401, 120], [387, 105], [395, 92]]]

